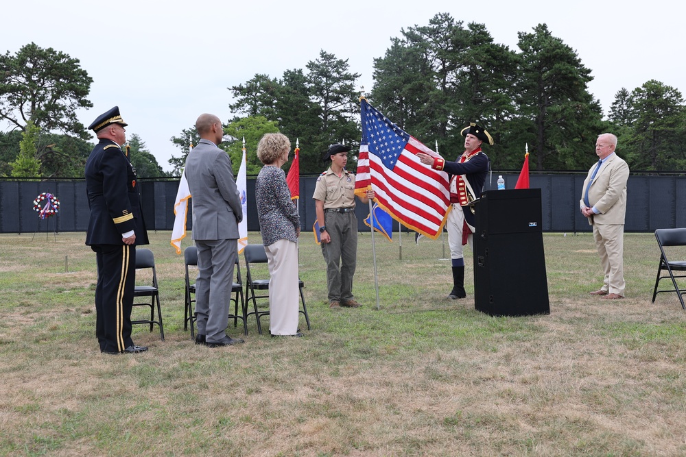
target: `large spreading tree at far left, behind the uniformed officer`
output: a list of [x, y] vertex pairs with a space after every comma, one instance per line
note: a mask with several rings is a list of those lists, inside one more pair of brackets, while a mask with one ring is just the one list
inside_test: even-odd
[[60, 130], [87, 139], [77, 108], [91, 108], [86, 97], [93, 79], [78, 59], [35, 43], [14, 55], [0, 55], [0, 119], [24, 130], [31, 121], [43, 132]]

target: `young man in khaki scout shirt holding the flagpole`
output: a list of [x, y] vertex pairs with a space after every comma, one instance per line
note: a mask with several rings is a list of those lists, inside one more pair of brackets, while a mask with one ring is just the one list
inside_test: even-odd
[[[329, 308], [357, 308], [353, 298], [353, 275], [357, 262], [357, 217], [355, 217], [355, 175], [345, 169], [350, 148], [341, 144], [329, 146], [323, 160], [331, 166], [318, 178], [314, 188], [315, 208], [319, 223], [322, 254], [327, 262]], [[374, 198], [368, 190], [362, 203]], [[339, 267], [340, 265], [340, 267]]]

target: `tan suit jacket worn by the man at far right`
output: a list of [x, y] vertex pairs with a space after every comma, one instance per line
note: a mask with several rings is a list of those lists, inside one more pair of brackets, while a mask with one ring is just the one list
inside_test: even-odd
[[[593, 175], [596, 164], [591, 166], [589, 175], [581, 188], [580, 208], [584, 208], [584, 193]], [[611, 154], [600, 166], [600, 170], [595, 174], [595, 180], [589, 188], [589, 203], [591, 208], [600, 211], [589, 217], [589, 224], [620, 224], [624, 225], [624, 214], [626, 214], [626, 180], [629, 177], [629, 166], [617, 156]]]

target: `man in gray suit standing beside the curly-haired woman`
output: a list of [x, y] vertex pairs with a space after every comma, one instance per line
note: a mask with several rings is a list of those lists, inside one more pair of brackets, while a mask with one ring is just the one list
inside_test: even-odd
[[224, 137], [222, 121], [213, 114], [201, 114], [196, 130], [202, 139], [188, 153], [184, 169], [193, 205], [193, 240], [198, 249], [196, 344], [229, 346], [243, 343], [226, 336], [243, 209], [231, 160], [217, 147]]

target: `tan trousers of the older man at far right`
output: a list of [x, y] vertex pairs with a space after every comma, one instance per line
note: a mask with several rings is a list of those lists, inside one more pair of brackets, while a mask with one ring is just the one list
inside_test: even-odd
[[594, 223], [593, 239], [605, 273], [601, 290], [624, 297], [624, 225]]

